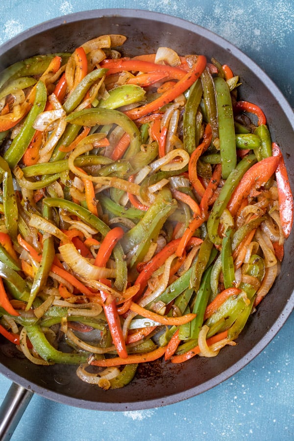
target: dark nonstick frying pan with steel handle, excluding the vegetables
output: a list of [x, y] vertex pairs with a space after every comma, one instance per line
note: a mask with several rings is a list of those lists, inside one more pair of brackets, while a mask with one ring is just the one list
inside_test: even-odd
[[[243, 52], [198, 25], [135, 9], [80, 12], [33, 27], [5, 43], [0, 48], [0, 69], [38, 53], [72, 51], [86, 40], [108, 33], [127, 36], [123, 56], [154, 52], [159, 46], [168, 46], [179, 54], [203, 53], [208, 60], [213, 56], [228, 64], [240, 75], [241, 98], [256, 102], [264, 109], [272, 139], [281, 146], [294, 187], [294, 156], [291, 154], [294, 114], [291, 107], [270, 78]], [[226, 346], [218, 357], [194, 357], [183, 365], [163, 361], [146, 364], [123, 389], [105, 392], [81, 382], [73, 366], [33, 365], [12, 344], [0, 338], [0, 373], [14, 382], [2, 406], [6, 436], [9, 435], [8, 426], [11, 424], [11, 433], [12, 421], [14, 424], [18, 421], [32, 392], [86, 409], [138, 410], [195, 396], [235, 374], [264, 349], [294, 307], [293, 242], [291, 234], [285, 244], [281, 272], [270, 294], [249, 318], [237, 346]]]

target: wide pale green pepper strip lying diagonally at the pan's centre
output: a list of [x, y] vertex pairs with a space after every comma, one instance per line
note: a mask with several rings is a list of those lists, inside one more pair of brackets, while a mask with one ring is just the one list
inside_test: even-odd
[[[147, 240], [149, 230], [152, 228], [152, 224], [154, 225], [154, 219], [156, 216], [158, 217], [159, 215], [158, 221], [160, 221], [161, 211], [168, 207], [168, 212], [170, 212], [174, 207], [174, 202], [174, 199], [172, 199], [172, 193], [169, 189], [163, 188], [158, 192], [154, 202], [145, 212], [144, 217], [133, 228], [128, 230], [121, 239], [121, 244], [125, 253], [128, 253], [142, 241]], [[163, 219], [166, 220], [166, 216], [163, 216]]]

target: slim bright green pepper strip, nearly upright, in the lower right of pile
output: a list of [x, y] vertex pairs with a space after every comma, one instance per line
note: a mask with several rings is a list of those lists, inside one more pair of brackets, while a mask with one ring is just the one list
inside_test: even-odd
[[196, 314], [195, 319], [190, 322], [190, 338], [197, 339], [201, 326], [203, 324], [203, 317], [211, 294], [210, 276], [212, 266], [210, 266], [203, 274], [201, 284], [196, 295], [196, 301], [193, 308], [193, 313]]

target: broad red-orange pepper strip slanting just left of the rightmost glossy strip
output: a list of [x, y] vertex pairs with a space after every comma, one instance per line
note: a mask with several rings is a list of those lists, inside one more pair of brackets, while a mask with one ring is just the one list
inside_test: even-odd
[[257, 162], [245, 172], [227, 205], [233, 217], [236, 216], [242, 200], [249, 195], [250, 191], [261, 187], [270, 179], [270, 176], [276, 171], [278, 163], [278, 157], [270, 156]]

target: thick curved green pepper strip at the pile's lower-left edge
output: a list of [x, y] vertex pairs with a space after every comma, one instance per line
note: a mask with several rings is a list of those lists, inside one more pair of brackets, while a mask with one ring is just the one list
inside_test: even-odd
[[40, 325], [26, 326], [26, 334], [32, 343], [35, 351], [49, 363], [60, 363], [78, 365], [85, 363], [90, 355], [90, 352], [81, 353], [65, 353], [55, 349], [48, 342], [44, 332], [42, 332]]

